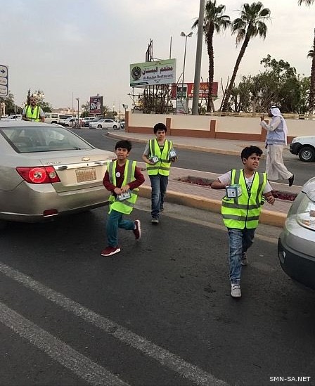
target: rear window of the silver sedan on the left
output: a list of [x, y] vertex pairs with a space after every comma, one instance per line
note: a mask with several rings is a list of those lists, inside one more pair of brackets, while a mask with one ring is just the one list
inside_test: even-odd
[[0, 133], [17, 153], [93, 148], [63, 127], [4, 127]]

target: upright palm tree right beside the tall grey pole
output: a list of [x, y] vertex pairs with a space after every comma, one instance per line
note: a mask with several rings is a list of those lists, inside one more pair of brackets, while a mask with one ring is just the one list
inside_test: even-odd
[[[208, 0], [205, 4], [205, 13], [203, 18], [203, 32], [205, 34], [205, 42], [207, 44], [207, 53], [209, 56], [209, 79], [208, 79], [208, 98], [207, 98], [207, 112], [212, 110], [212, 84], [214, 79], [214, 49], [213, 49], [213, 35], [214, 31], [219, 33], [225, 31], [231, 25], [228, 15], [223, 15], [225, 6], [217, 5], [217, 0]], [[195, 20], [192, 28], [198, 26], [199, 20]]]

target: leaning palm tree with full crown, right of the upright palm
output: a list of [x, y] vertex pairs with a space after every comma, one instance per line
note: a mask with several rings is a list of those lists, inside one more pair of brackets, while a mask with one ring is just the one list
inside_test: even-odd
[[232, 34], [236, 33], [236, 45], [239, 44], [240, 41], [243, 41], [243, 44], [240, 48], [240, 53], [238, 53], [229, 86], [226, 89], [221, 102], [221, 111], [226, 111], [229, 106], [229, 98], [236, 79], [238, 67], [240, 66], [240, 60], [242, 60], [244, 56], [250, 39], [257, 35], [263, 39], [266, 37], [267, 27], [264, 21], [269, 19], [269, 8], [264, 8], [263, 4], [260, 1], [257, 1], [257, 3], [243, 4], [243, 8], [240, 10], [240, 18], [233, 20]]

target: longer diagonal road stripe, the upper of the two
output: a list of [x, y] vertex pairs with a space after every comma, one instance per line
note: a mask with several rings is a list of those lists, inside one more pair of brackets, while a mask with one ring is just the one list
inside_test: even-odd
[[96, 314], [96, 312], [91, 311], [82, 304], [79, 304], [60, 292], [56, 292], [46, 285], [34, 281], [30, 276], [22, 274], [21, 272], [13, 269], [11, 266], [8, 266], [4, 263], [0, 263], [0, 272], [5, 274], [9, 278], [12, 278], [18, 283], [23, 284], [26, 288], [30, 288], [34, 292], [39, 293], [39, 295], [45, 297], [53, 303], [58, 304], [66, 311], [75, 314], [84, 321], [93, 324], [94, 326], [105, 331], [105, 333], [110, 333], [112, 336], [116, 337], [121, 342], [126, 343], [127, 345], [138, 349], [140, 352], [150, 356], [151, 358], [158, 361], [162, 366], [166, 366], [175, 373], [181, 375], [181, 377], [191, 380], [196, 385], [200, 386], [228, 386], [223, 380], [215, 378], [214, 375], [203, 371], [198, 366], [190, 364], [184, 359], [181, 359], [180, 356], [168, 352], [166, 349], [155, 345], [155, 343], [146, 340], [146, 338], [141, 337], [135, 333], [132, 333], [127, 328], [124, 328], [117, 323], [111, 321], [104, 316]]

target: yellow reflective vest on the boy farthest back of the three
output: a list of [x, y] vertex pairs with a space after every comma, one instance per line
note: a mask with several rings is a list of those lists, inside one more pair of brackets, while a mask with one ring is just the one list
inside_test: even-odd
[[156, 176], [161, 174], [162, 176], [169, 176], [169, 170], [171, 169], [171, 162], [169, 161], [169, 151], [172, 149], [172, 141], [165, 139], [164, 147], [161, 152], [159, 143], [156, 139], [150, 139], [149, 141], [149, 157], [156, 155], [159, 160], [155, 165], [146, 164], [146, 169], [149, 176]]

